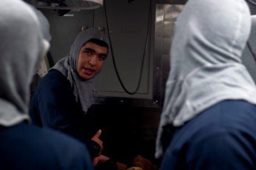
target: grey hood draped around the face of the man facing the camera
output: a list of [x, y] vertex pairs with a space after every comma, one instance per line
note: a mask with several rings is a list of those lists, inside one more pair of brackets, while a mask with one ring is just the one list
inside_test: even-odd
[[[52, 69], [59, 70], [69, 80], [73, 88], [75, 100], [77, 103], [81, 104], [83, 112], [87, 112], [87, 109], [92, 104], [95, 94], [94, 78], [95, 75], [99, 73], [101, 66], [98, 70], [88, 65], [81, 66], [79, 56], [81, 56], [81, 52], [86, 52], [81, 51], [81, 49], [88, 44], [87, 42], [93, 42], [93, 44], [95, 44], [94, 40], [101, 41], [96, 46], [105, 46], [104, 48], [108, 48], [108, 41], [103, 31], [100, 31], [98, 28], [85, 29], [85, 31], [80, 32], [75, 38], [70, 48], [69, 55], [62, 58], [52, 67]], [[91, 75], [85, 75], [85, 77], [83, 77], [80, 73]]]

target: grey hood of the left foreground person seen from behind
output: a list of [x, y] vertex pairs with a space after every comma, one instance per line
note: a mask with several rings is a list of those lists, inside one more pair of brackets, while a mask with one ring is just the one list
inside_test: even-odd
[[1, 0], [0, 40], [0, 125], [12, 126], [28, 119], [33, 73], [49, 44], [35, 12], [16, 0]]

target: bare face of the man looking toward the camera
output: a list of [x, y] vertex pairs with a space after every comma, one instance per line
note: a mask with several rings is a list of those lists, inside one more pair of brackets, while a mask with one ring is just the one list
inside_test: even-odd
[[107, 52], [106, 47], [93, 42], [87, 42], [83, 45], [78, 57], [77, 72], [79, 76], [85, 80], [93, 78], [102, 68], [107, 58]]

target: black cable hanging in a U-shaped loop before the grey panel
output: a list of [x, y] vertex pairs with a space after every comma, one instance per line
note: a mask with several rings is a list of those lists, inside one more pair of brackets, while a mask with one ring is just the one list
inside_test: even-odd
[[150, 5], [149, 5], [149, 18], [148, 18], [148, 29], [146, 31], [146, 43], [145, 43], [145, 49], [144, 49], [144, 53], [143, 53], [143, 57], [142, 57], [142, 61], [141, 61], [141, 69], [140, 69], [140, 78], [139, 78], [139, 82], [138, 82], [138, 85], [136, 87], [136, 90], [133, 91], [133, 92], [129, 92], [127, 90], [127, 88], [125, 88], [124, 86], [124, 83], [122, 82], [121, 78], [120, 78], [120, 75], [117, 71], [117, 67], [116, 67], [116, 62], [115, 62], [115, 57], [114, 57], [114, 52], [113, 52], [113, 49], [112, 49], [112, 43], [111, 43], [111, 39], [110, 39], [110, 30], [109, 30], [109, 27], [108, 27], [108, 14], [107, 14], [107, 7], [106, 7], [106, 1], [104, 3], [104, 10], [105, 10], [105, 15], [106, 15], [106, 23], [107, 23], [107, 35], [108, 35], [108, 39], [110, 41], [110, 49], [111, 49], [111, 53], [112, 53], [112, 60], [113, 60], [113, 63], [114, 63], [114, 68], [115, 68], [115, 71], [116, 71], [116, 75], [117, 75], [117, 78], [121, 84], [121, 86], [123, 87], [124, 91], [127, 92], [127, 94], [129, 95], [134, 95], [137, 93], [137, 91], [139, 90], [139, 87], [140, 87], [140, 83], [141, 83], [141, 75], [142, 75], [142, 70], [143, 70], [143, 63], [144, 63], [144, 58], [145, 58], [145, 53], [146, 53], [146, 47], [148, 46], [148, 39], [149, 39], [149, 26], [150, 26], [150, 19], [151, 19], [151, 9], [152, 9], [152, 0], [150, 0]]

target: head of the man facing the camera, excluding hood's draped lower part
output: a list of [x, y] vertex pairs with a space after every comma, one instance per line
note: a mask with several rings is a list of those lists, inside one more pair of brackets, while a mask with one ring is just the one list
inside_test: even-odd
[[75, 39], [70, 54], [74, 54], [73, 69], [82, 79], [89, 80], [102, 69], [108, 53], [108, 44], [104, 38], [103, 32], [89, 28]]

